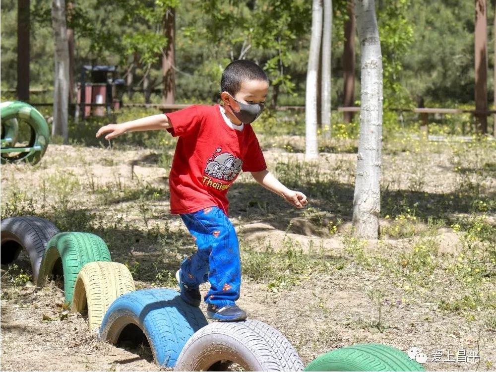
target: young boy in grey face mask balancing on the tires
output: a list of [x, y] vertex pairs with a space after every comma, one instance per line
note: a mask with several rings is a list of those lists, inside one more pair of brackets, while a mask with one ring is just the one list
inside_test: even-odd
[[166, 129], [179, 136], [169, 176], [171, 213], [179, 214], [198, 250], [187, 257], [176, 273], [181, 297], [200, 306], [199, 285], [210, 282], [204, 297], [207, 316], [220, 321], [243, 320], [236, 306], [240, 297], [239, 242], [229, 220], [226, 197], [239, 173], [251, 172], [265, 188], [297, 208], [307, 197], [282, 185], [267, 170], [258, 140], [250, 125], [261, 114], [268, 78], [254, 62], [231, 62], [222, 73], [221, 105], [192, 105], [170, 114], [149, 116], [101, 127], [105, 139], [135, 130]]

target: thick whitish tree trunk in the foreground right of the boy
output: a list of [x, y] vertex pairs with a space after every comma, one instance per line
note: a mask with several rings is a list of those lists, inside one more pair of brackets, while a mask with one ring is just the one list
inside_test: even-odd
[[356, 0], [361, 51], [360, 138], [353, 198], [353, 227], [377, 239], [382, 145], [382, 56], [374, 0]]

